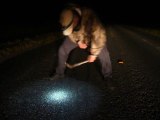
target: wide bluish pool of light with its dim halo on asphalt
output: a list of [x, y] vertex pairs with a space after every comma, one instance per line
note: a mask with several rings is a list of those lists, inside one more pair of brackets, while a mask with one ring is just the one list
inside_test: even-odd
[[30, 120], [80, 120], [92, 117], [99, 109], [103, 93], [85, 81], [66, 78], [41, 80], [12, 92], [4, 113], [10, 118]]

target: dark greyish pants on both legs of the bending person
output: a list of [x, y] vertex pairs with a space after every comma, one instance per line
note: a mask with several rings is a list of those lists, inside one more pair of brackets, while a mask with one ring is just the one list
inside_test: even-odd
[[[58, 51], [58, 66], [56, 68], [57, 74], [64, 74], [65, 71], [65, 62], [68, 59], [69, 53], [74, 49], [78, 47], [77, 44], [73, 43], [69, 38], [66, 38], [62, 45], [59, 48]], [[108, 77], [112, 73], [112, 65], [111, 60], [109, 56], [109, 52], [107, 49], [107, 46], [105, 45], [100, 54], [98, 55], [98, 58], [101, 63], [101, 71], [104, 77]]]

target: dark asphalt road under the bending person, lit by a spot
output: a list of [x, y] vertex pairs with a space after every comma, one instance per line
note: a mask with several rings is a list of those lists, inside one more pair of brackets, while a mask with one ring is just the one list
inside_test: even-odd
[[[107, 33], [111, 81], [102, 79], [98, 60], [67, 69], [63, 80], [48, 80], [57, 64], [57, 42], [1, 63], [1, 120], [160, 119], [159, 42], [122, 26], [109, 26]], [[77, 48], [68, 62], [86, 57]]]

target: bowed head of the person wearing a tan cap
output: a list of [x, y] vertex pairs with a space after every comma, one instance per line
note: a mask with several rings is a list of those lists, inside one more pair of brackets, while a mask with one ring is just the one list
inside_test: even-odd
[[81, 10], [79, 8], [65, 8], [60, 15], [60, 24], [63, 35], [70, 35], [80, 28]]

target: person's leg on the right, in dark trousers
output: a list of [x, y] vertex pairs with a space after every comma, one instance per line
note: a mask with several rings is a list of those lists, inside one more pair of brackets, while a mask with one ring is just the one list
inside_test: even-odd
[[104, 79], [107, 77], [111, 77], [112, 74], [112, 65], [110, 60], [110, 55], [107, 49], [107, 46], [105, 46], [100, 54], [98, 55], [98, 58], [101, 63], [101, 71], [103, 74]]

